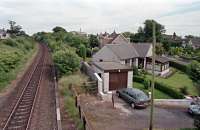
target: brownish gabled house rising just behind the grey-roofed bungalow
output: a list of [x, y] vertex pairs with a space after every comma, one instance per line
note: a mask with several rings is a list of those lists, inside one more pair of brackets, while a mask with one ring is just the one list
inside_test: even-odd
[[111, 34], [105, 32], [99, 35], [100, 48], [107, 44], [130, 43], [130, 39], [125, 38], [122, 34], [117, 34], [115, 31]]

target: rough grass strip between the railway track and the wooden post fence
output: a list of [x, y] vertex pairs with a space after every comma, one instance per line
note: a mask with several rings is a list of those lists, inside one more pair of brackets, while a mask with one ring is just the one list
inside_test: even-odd
[[79, 118], [79, 111], [75, 106], [75, 99], [72, 95], [72, 92], [69, 90], [69, 85], [73, 84], [73, 86], [78, 89], [79, 92], [83, 91], [80, 87], [84, 82], [88, 80], [87, 76], [77, 72], [70, 76], [63, 76], [59, 80], [59, 91], [61, 96], [64, 98], [64, 107], [68, 116], [73, 119], [76, 128], [79, 130], [83, 129], [83, 124], [81, 119]]

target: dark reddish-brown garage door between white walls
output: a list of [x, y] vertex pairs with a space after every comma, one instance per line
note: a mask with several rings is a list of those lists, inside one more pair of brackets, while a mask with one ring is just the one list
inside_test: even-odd
[[127, 72], [109, 73], [109, 90], [117, 90], [127, 87]]

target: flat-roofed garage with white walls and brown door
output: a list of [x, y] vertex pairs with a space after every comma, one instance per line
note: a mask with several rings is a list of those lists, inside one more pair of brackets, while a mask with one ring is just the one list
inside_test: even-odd
[[[132, 87], [132, 68], [119, 62], [94, 62], [98, 74], [98, 92], [109, 93], [118, 89]], [[100, 79], [100, 80], [99, 80]]]

